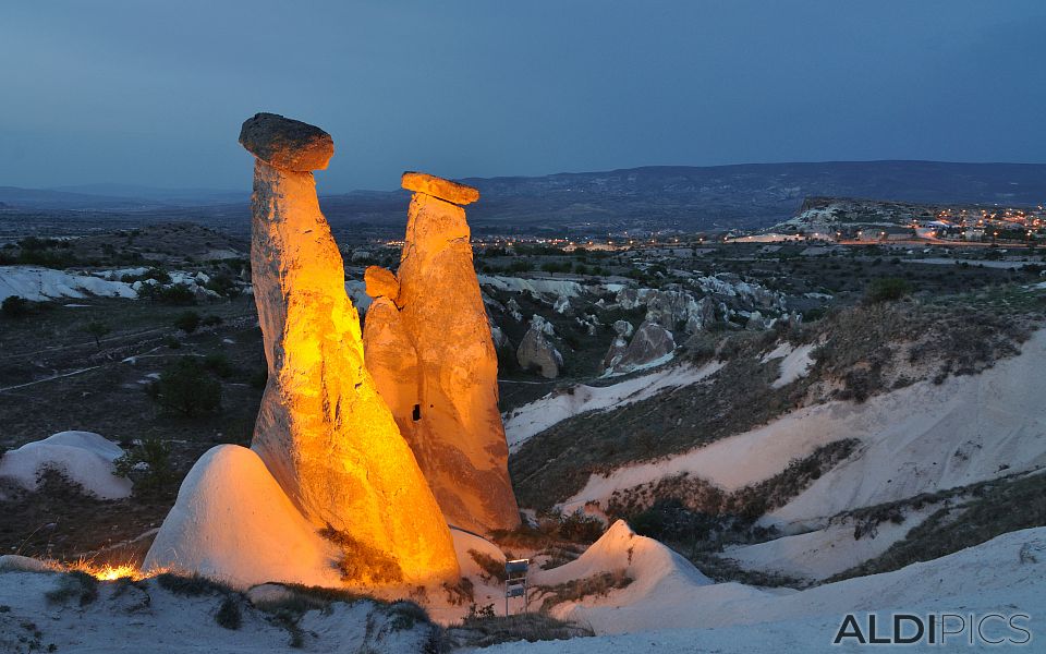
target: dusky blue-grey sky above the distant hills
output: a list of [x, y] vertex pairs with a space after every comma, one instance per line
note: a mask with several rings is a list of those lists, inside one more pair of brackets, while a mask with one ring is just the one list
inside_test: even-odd
[[240, 124], [337, 153], [321, 193], [441, 177], [1046, 161], [1041, 0], [7, 2], [0, 186], [247, 189]]

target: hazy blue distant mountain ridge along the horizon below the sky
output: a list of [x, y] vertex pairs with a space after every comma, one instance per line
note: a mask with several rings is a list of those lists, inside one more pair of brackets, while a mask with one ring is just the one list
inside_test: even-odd
[[[469, 207], [470, 221], [491, 229], [759, 228], [791, 218], [808, 196], [1012, 206], [1046, 202], [1046, 164], [887, 160], [647, 166], [460, 181], [481, 191], [479, 202]], [[98, 193], [84, 193], [86, 190]], [[404, 191], [355, 191], [324, 195], [320, 202], [333, 223], [401, 225], [406, 196]], [[193, 207], [197, 216], [229, 217], [243, 213], [247, 198], [246, 192], [236, 191], [118, 184], [50, 191], [0, 187], [0, 202], [38, 209]]]

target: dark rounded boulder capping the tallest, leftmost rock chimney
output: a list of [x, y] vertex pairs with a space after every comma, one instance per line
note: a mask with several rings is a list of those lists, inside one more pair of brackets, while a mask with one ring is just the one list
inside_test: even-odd
[[243, 121], [240, 145], [269, 166], [295, 172], [324, 170], [335, 155], [330, 134], [276, 113], [255, 113]]

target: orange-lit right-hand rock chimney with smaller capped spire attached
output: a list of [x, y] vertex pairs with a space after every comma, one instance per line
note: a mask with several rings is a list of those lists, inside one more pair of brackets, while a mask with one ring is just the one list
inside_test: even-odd
[[[479, 192], [406, 172], [415, 191], [396, 279], [374, 272], [364, 328], [367, 367], [411, 444], [447, 520], [486, 533], [520, 523], [498, 412], [498, 358], [461, 204]], [[408, 347], [411, 346], [411, 347]]]

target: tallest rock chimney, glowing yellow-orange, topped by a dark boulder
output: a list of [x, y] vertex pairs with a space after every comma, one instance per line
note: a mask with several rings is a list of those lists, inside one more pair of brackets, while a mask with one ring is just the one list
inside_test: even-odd
[[348, 585], [454, 580], [446, 520], [364, 364], [341, 255], [308, 172], [327, 165], [330, 136], [259, 113], [241, 142], [258, 157], [251, 264], [268, 363], [252, 449], [342, 546], [353, 564]]

